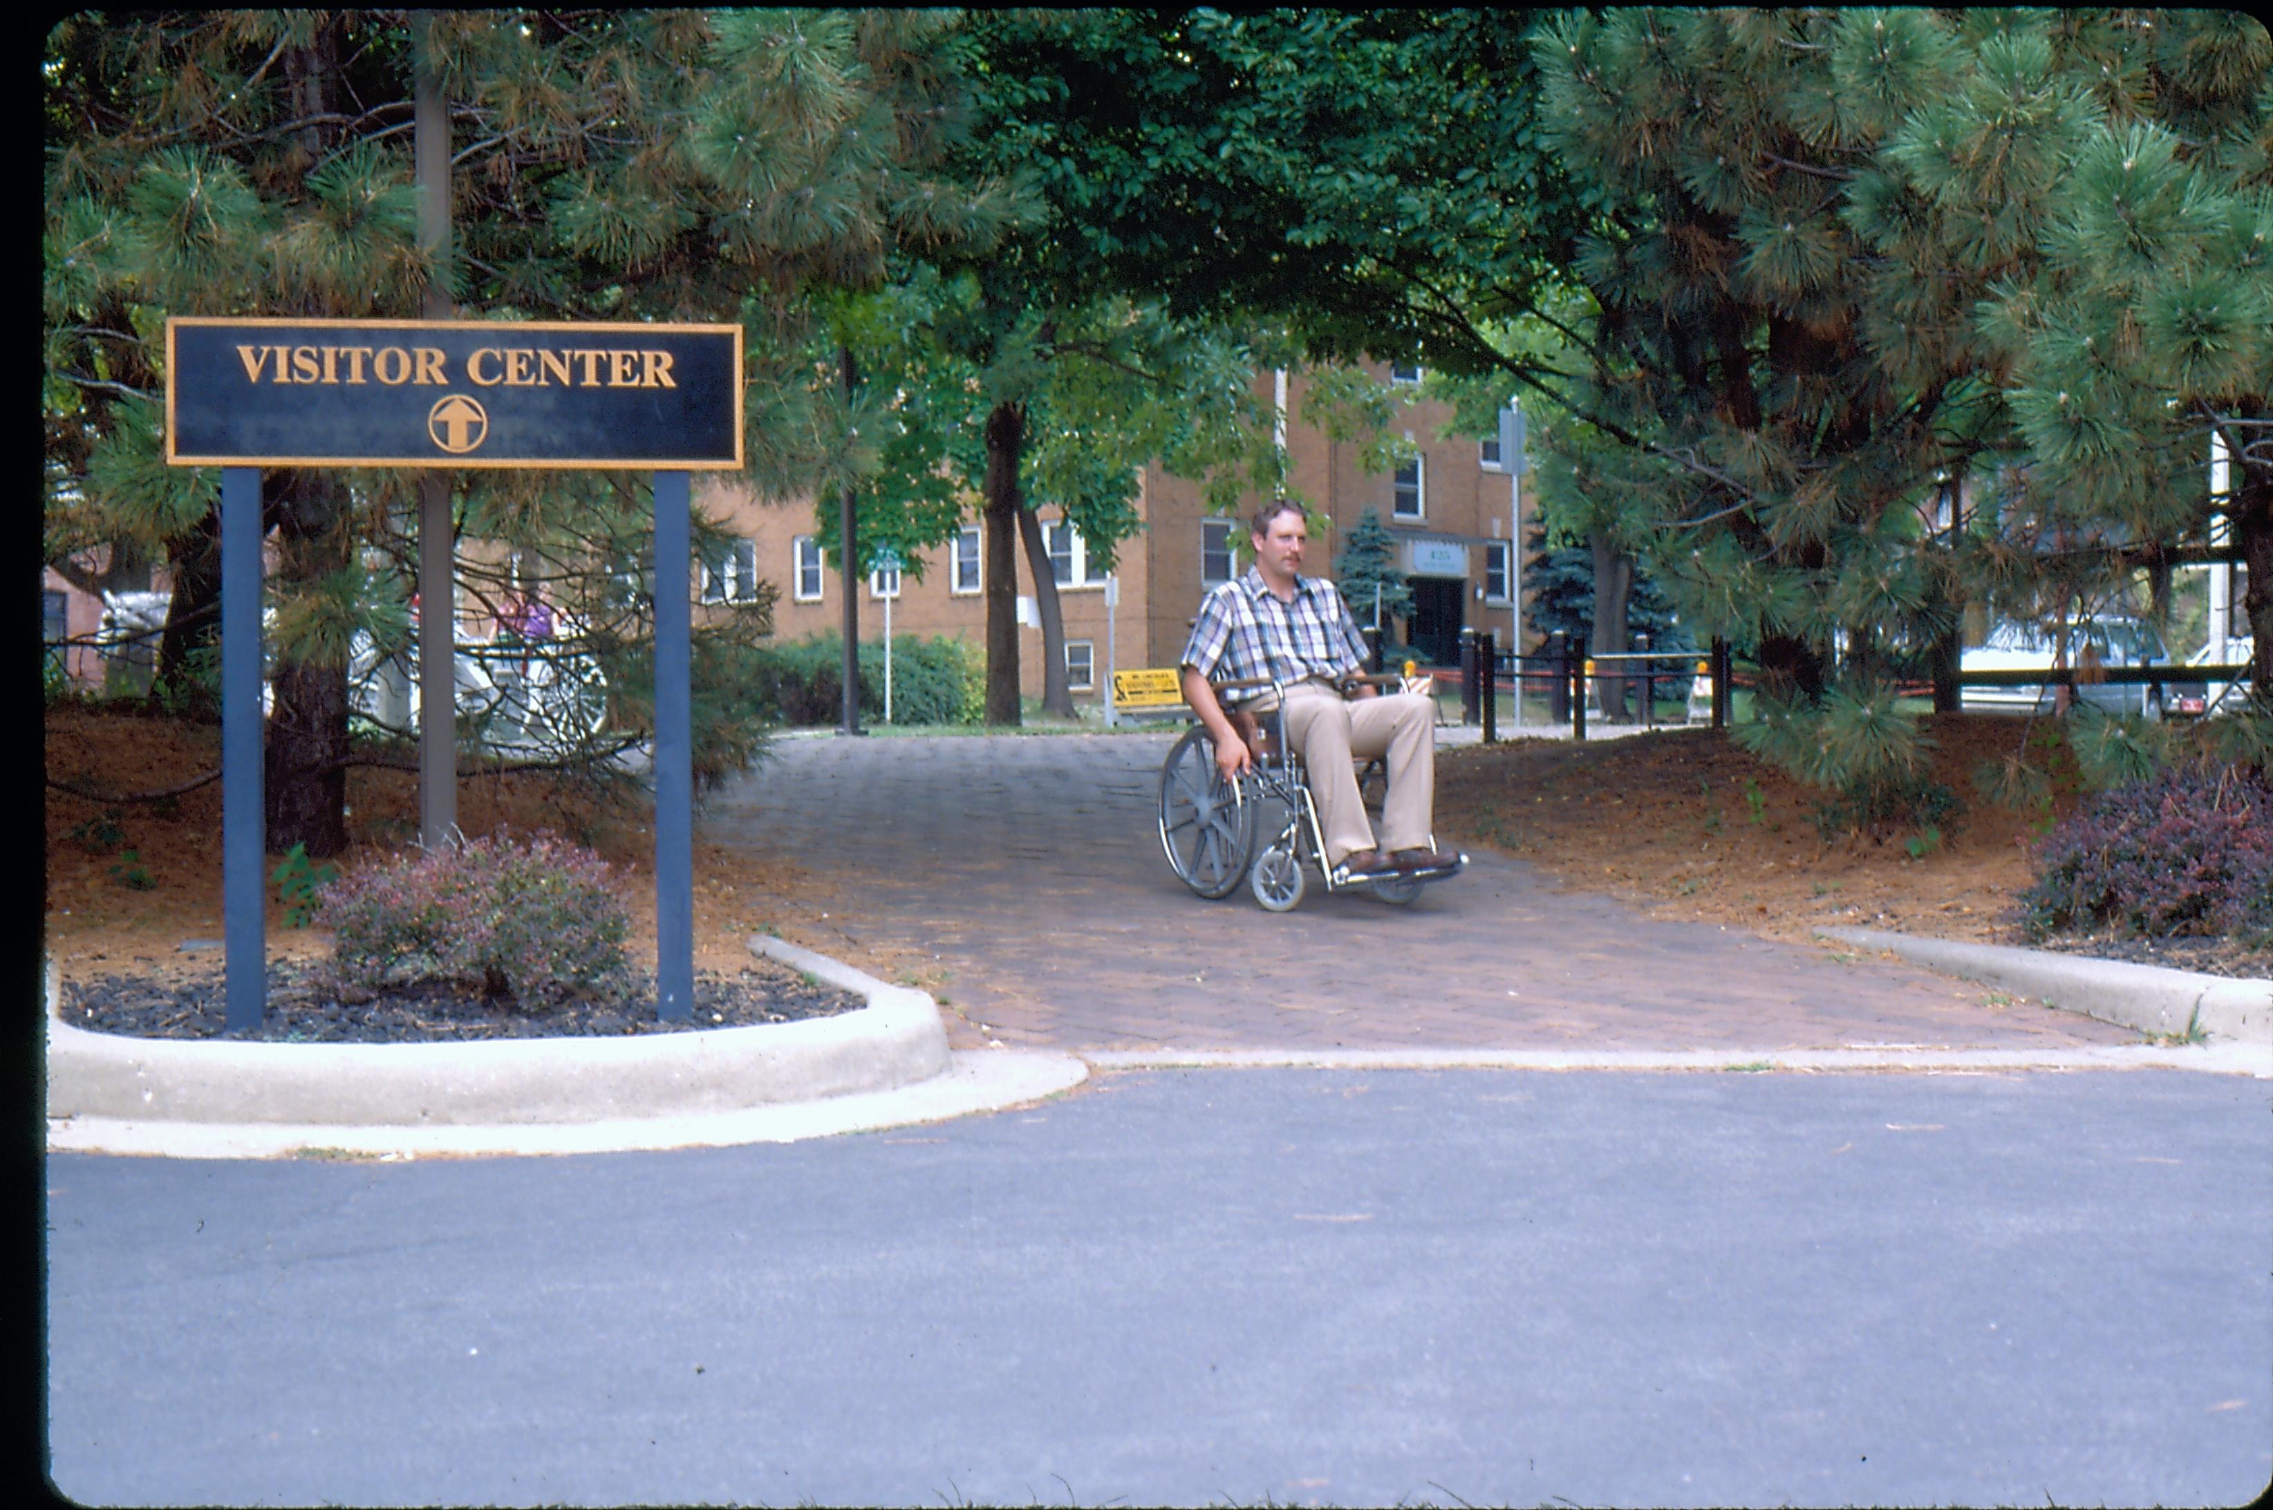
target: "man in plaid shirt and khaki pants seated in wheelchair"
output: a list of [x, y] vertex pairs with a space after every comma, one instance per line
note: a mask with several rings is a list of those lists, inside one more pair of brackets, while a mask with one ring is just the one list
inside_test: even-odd
[[[1200, 603], [1184, 644], [1184, 700], [1207, 725], [1223, 778], [1262, 755], [1257, 712], [1273, 691], [1216, 696], [1212, 680], [1284, 685], [1282, 725], [1309, 771], [1327, 871], [1350, 880], [1416, 876], [1459, 866], [1430, 844], [1437, 789], [1437, 707], [1418, 694], [1377, 696], [1357, 678], [1366, 641], [1332, 582], [1300, 575], [1309, 528], [1302, 509], [1266, 503], [1252, 518], [1255, 566]], [[1230, 703], [1225, 707], [1225, 703]], [[1389, 794], [1375, 837], [1357, 789], [1352, 757], [1387, 757]]]

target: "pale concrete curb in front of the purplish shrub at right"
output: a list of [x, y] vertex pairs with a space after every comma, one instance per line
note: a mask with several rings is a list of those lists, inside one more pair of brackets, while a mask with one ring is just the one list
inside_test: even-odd
[[1912, 964], [2003, 985], [2048, 1007], [2082, 1012], [2155, 1037], [2234, 1039], [2273, 1046], [2273, 980], [2234, 980], [2159, 964], [2055, 955], [2005, 944], [1962, 944], [1884, 928], [1816, 928], [1825, 939], [1884, 948]]

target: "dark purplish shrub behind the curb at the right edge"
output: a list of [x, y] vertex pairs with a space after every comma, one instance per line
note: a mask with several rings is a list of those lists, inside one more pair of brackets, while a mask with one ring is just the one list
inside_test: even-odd
[[2189, 762], [2089, 798], [2037, 844], [2023, 928], [2273, 944], [2273, 785]]

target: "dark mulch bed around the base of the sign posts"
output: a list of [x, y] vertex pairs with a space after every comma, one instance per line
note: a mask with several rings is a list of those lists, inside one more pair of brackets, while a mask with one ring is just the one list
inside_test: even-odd
[[61, 1017], [89, 1032], [164, 1039], [227, 1039], [243, 1044], [464, 1044], [511, 1037], [625, 1037], [636, 1032], [693, 1032], [702, 1028], [752, 1028], [834, 1017], [868, 1005], [866, 998], [775, 962], [757, 962], [734, 976], [696, 973], [693, 1017], [655, 1017], [652, 971], [609, 1001], [566, 1001], [521, 1010], [496, 1003], [459, 985], [427, 982], [396, 987], [368, 1001], [339, 1001], [327, 992], [320, 962], [277, 960], [268, 964], [268, 1010], [259, 1028], [227, 1032], [227, 998], [220, 969], [166, 976], [102, 976], [61, 982]]

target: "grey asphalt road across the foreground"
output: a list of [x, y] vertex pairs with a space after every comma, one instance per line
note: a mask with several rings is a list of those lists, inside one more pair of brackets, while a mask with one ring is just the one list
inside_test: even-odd
[[1143, 1071], [789, 1146], [50, 1155], [82, 1503], [2246, 1503], [2273, 1082]]

